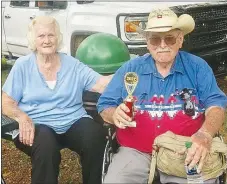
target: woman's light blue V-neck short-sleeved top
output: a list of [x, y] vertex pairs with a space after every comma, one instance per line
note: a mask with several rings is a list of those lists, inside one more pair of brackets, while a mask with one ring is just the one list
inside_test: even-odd
[[60, 134], [78, 119], [90, 117], [83, 108], [82, 93], [90, 90], [100, 75], [71, 56], [59, 56], [61, 68], [53, 90], [39, 72], [34, 53], [15, 62], [2, 90], [34, 123]]

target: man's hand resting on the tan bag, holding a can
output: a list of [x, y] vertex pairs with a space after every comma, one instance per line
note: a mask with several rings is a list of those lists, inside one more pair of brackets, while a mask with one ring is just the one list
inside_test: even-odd
[[199, 130], [191, 138], [192, 146], [187, 151], [185, 165], [189, 165], [189, 169], [192, 169], [198, 163], [197, 172], [199, 173], [202, 170], [206, 155], [210, 151], [212, 136], [207, 132]]

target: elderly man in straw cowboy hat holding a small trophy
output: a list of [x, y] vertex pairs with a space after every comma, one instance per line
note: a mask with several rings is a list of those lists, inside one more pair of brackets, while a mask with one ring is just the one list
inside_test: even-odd
[[[198, 163], [201, 170], [212, 137], [224, 121], [227, 99], [208, 64], [179, 51], [184, 36], [194, 27], [190, 15], [177, 17], [170, 9], [152, 11], [144, 31], [150, 53], [125, 63], [100, 97], [98, 111], [106, 122], [117, 127], [120, 144], [104, 183], [147, 182], [154, 139], [168, 130], [191, 136], [185, 164], [192, 168]], [[128, 96], [124, 86], [128, 72], [138, 76], [133, 93], [136, 127], [128, 126], [132, 118], [123, 103]], [[161, 183], [186, 183], [185, 178], [159, 174]], [[214, 183], [216, 179], [207, 182]]]

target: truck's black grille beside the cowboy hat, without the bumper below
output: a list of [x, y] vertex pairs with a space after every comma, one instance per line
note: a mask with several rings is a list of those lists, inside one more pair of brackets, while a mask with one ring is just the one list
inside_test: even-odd
[[178, 15], [190, 14], [195, 30], [185, 37], [184, 48], [189, 51], [227, 45], [227, 4], [175, 7]]

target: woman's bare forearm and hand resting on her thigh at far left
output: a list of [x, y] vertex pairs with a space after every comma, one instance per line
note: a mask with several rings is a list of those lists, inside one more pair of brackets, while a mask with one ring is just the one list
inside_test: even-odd
[[19, 123], [19, 139], [25, 145], [32, 145], [35, 127], [32, 119], [21, 111], [18, 103], [6, 93], [2, 92], [2, 113]]

